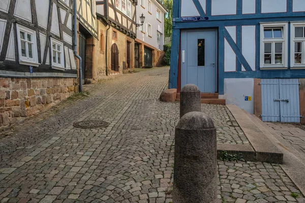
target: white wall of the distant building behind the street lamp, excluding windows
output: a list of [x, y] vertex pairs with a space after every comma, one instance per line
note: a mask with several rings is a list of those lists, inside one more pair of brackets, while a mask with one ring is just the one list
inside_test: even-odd
[[[137, 23], [140, 22], [140, 16], [143, 13], [145, 16], [144, 21], [144, 30], [145, 33], [141, 32], [141, 28], [137, 28], [137, 39], [158, 48], [157, 44], [157, 30], [162, 33], [161, 35], [161, 50], [163, 51], [163, 45], [164, 45], [164, 13], [165, 9], [157, 3], [156, 0], [151, 0], [151, 14], [148, 13], [148, 0], [144, 0], [145, 9], [141, 7], [141, 1], [138, 1], [137, 5]], [[157, 20], [157, 8], [161, 12], [161, 22]], [[151, 24], [151, 37], [148, 36], [148, 23]]]

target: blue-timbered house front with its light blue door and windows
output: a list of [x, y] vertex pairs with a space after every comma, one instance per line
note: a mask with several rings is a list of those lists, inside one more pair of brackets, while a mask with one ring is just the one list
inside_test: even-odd
[[304, 12], [303, 0], [174, 0], [169, 88], [193, 83], [264, 121], [300, 122]]

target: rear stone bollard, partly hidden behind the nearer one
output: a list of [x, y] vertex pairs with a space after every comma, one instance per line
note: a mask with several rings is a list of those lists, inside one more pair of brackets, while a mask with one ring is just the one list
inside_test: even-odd
[[201, 112], [201, 92], [194, 84], [187, 84], [180, 91], [180, 118], [192, 111]]

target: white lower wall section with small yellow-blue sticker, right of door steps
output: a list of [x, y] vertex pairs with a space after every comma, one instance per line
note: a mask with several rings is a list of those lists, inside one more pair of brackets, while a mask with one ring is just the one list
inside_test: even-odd
[[[245, 101], [245, 96], [251, 96], [251, 101]], [[253, 78], [225, 78], [224, 95], [226, 104], [234, 104], [250, 114], [254, 113], [254, 79]]]

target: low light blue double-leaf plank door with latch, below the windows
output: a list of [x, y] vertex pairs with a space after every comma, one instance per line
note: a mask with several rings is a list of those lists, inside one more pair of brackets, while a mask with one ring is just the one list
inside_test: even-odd
[[262, 120], [300, 122], [298, 79], [261, 79]]

